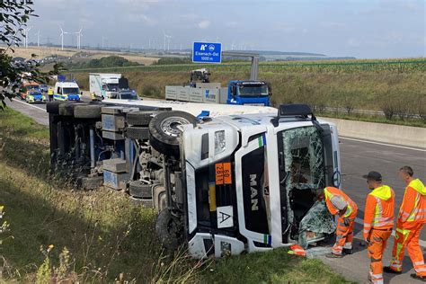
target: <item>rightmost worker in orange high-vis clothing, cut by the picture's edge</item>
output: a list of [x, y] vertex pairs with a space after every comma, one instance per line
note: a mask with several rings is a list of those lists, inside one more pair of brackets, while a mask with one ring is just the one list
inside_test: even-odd
[[407, 186], [396, 223], [392, 262], [384, 270], [389, 273], [401, 273], [406, 247], [416, 271], [411, 277], [426, 281], [426, 265], [419, 245], [419, 235], [426, 223], [426, 188], [419, 179], [414, 179], [413, 175], [413, 169], [408, 165], [399, 170], [399, 176]]

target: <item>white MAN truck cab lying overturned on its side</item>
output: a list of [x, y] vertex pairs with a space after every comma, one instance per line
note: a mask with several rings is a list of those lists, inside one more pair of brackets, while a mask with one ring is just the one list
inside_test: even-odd
[[219, 117], [182, 129], [182, 216], [191, 255], [307, 248], [333, 236], [333, 216], [315, 200], [324, 187], [340, 187], [333, 124], [293, 105], [276, 117]]

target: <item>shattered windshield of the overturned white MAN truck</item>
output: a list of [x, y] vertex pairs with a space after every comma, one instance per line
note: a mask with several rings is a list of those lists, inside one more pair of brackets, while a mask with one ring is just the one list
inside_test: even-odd
[[[287, 204], [283, 205], [287, 208], [285, 233], [288, 241], [299, 239], [300, 234], [307, 230], [316, 233], [332, 231], [329, 224], [333, 223], [333, 219], [324, 210], [324, 204], [314, 206], [315, 191], [324, 188], [325, 184], [324, 146], [320, 131], [314, 126], [287, 129], [280, 132], [279, 139], [282, 147], [280, 175], [286, 177], [281, 186], [285, 187], [284, 194], [287, 195], [284, 199]], [[313, 208], [314, 211], [311, 210]], [[315, 217], [318, 212], [324, 213]], [[305, 221], [302, 221], [304, 218]], [[324, 218], [330, 222], [324, 222]], [[307, 221], [309, 224], [306, 224]], [[315, 238], [317, 235], [311, 236]], [[306, 243], [306, 235], [302, 239]]]

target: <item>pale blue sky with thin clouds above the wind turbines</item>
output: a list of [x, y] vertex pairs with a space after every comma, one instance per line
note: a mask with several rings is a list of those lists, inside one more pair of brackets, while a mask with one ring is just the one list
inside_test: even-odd
[[[34, 0], [41, 41], [83, 28], [82, 45], [305, 51], [357, 58], [425, 57], [425, 1], [377, 0]], [[36, 36], [30, 34], [30, 41]], [[74, 37], [75, 38], [75, 37]], [[67, 44], [75, 43], [71, 34]]]

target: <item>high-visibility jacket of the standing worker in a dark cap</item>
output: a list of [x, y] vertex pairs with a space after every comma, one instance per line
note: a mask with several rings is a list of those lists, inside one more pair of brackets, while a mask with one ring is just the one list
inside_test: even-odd
[[394, 226], [395, 192], [387, 185], [377, 187], [367, 195], [364, 212], [364, 238], [372, 228], [389, 229]]

